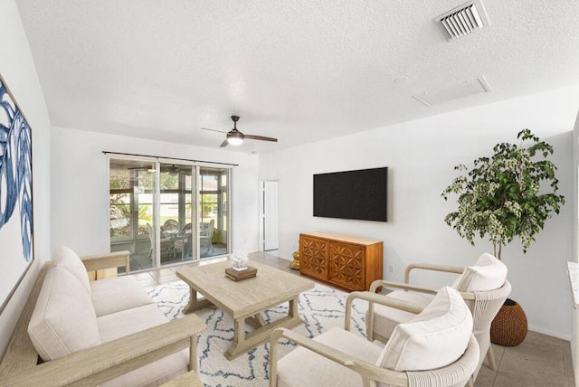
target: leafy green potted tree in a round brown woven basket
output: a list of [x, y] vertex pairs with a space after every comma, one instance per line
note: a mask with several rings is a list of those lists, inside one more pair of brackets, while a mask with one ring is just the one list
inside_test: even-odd
[[[519, 145], [497, 144], [493, 147], [493, 156], [479, 157], [470, 170], [465, 165], [455, 166], [460, 175], [442, 192], [444, 200], [448, 200], [451, 193], [459, 195], [458, 211], [446, 215], [444, 221], [472, 245], [476, 235], [488, 238], [499, 260], [503, 245], [515, 237], [526, 253], [546, 220], [553, 212], [559, 213], [565, 204], [564, 196], [557, 193], [557, 168], [547, 159], [553, 154], [553, 146], [541, 141], [529, 129], [519, 132], [517, 138]], [[518, 345], [527, 335], [527, 318], [522, 309], [521, 320], [524, 318], [524, 321], [515, 333], [517, 338], [508, 342], [508, 338], [503, 337], [508, 333], [498, 332], [499, 329], [513, 331], [512, 326], [498, 326], [501, 313], [512, 318], [509, 306], [520, 308], [514, 301], [507, 300], [491, 327], [493, 343]]]

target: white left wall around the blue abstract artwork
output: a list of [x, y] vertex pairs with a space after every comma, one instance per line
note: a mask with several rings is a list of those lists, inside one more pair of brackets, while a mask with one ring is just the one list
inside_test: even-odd
[[[0, 357], [5, 352], [38, 269], [50, 257], [50, 120], [36, 76], [20, 14], [13, 0], [0, 1], [0, 73], [23, 111], [33, 134], [34, 261], [0, 315]], [[0, 251], [2, 251], [0, 246]], [[0, 261], [2, 255], [0, 254]]]

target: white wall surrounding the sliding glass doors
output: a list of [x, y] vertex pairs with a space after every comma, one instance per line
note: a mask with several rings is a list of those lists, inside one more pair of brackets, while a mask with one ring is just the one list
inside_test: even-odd
[[108, 160], [102, 151], [238, 164], [233, 168], [233, 249], [257, 250], [258, 156], [52, 128], [52, 248], [109, 251]]

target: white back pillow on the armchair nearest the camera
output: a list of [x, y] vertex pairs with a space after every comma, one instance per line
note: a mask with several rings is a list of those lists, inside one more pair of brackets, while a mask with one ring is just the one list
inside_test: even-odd
[[454, 363], [469, 344], [472, 316], [460, 293], [444, 287], [409, 323], [396, 326], [376, 365], [422, 371]]

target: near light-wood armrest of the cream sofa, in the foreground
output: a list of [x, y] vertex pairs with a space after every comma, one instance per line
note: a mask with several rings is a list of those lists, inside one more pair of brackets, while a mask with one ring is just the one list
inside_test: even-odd
[[189, 369], [196, 371], [196, 335], [205, 328], [198, 316], [185, 316], [36, 365], [22, 373], [0, 377], [0, 385], [98, 385], [187, 347], [190, 348]]

